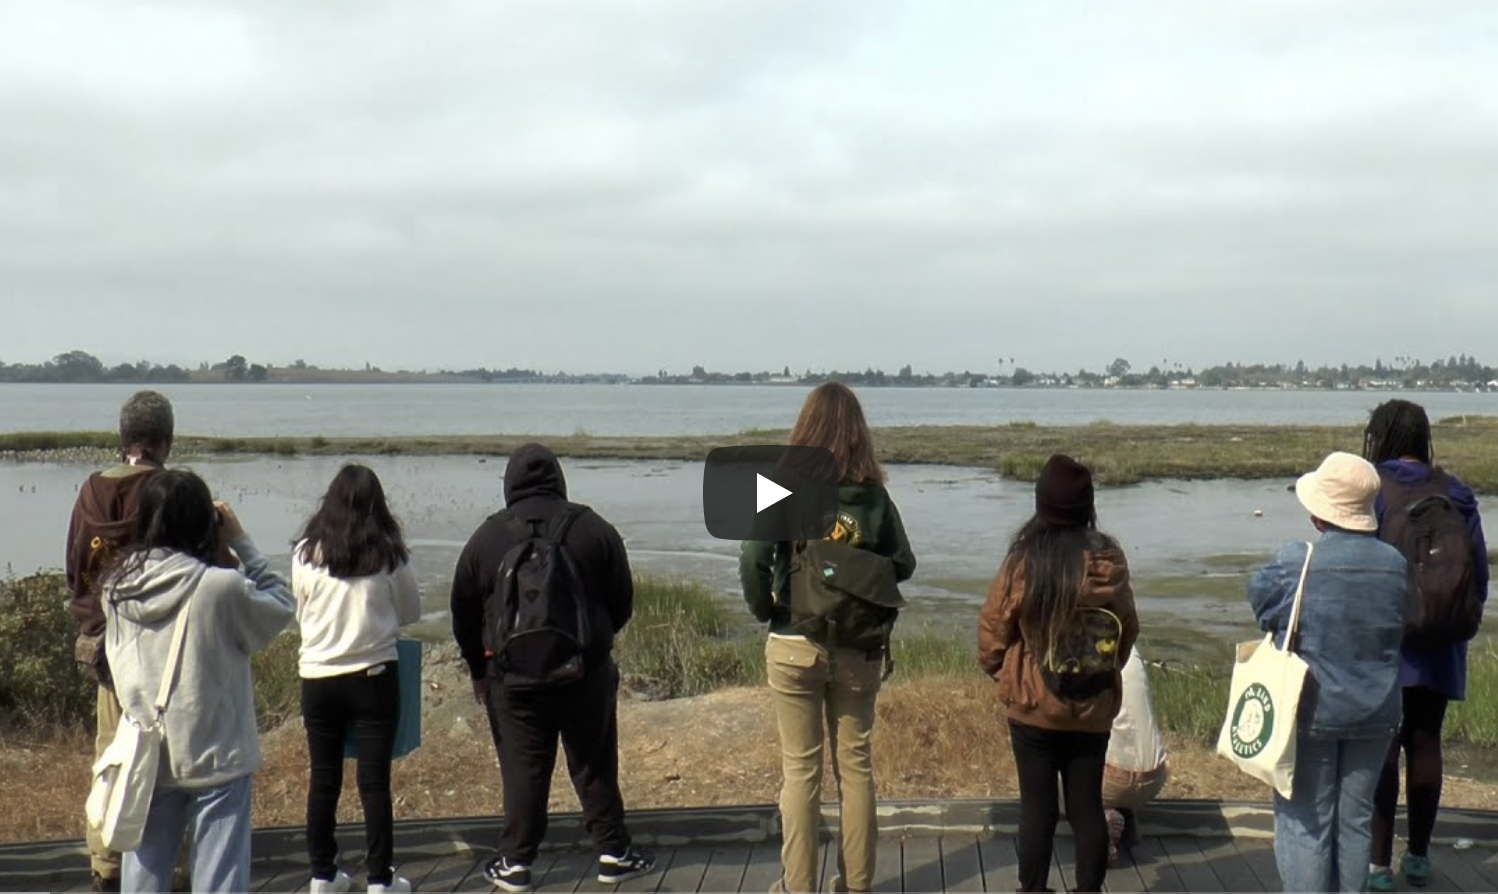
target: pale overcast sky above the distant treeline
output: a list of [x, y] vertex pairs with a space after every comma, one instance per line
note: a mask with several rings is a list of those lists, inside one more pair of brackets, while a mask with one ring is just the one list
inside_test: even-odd
[[0, 4], [0, 361], [1498, 364], [1486, 0]]

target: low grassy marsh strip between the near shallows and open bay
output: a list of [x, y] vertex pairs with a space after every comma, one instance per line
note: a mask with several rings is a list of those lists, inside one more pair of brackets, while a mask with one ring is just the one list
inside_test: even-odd
[[[195, 437], [181, 436], [174, 455], [213, 457], [508, 457], [539, 440], [557, 455], [587, 460], [701, 461], [718, 446], [783, 443], [783, 428], [712, 436], [409, 436], [409, 437]], [[1091, 464], [1103, 485], [1164, 479], [1285, 479], [1314, 469], [1335, 449], [1359, 452], [1362, 425], [909, 425], [876, 428], [888, 464], [992, 469], [1034, 481], [1046, 458], [1065, 452]], [[1498, 493], [1498, 416], [1455, 416], [1435, 424], [1441, 464], [1480, 493]], [[118, 436], [108, 431], [0, 434], [10, 461], [99, 461]]]

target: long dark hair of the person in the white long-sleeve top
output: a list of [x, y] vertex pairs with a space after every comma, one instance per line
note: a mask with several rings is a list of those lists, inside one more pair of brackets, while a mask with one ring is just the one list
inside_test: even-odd
[[333, 476], [300, 539], [297, 557], [336, 578], [392, 572], [410, 559], [379, 476], [358, 463]]

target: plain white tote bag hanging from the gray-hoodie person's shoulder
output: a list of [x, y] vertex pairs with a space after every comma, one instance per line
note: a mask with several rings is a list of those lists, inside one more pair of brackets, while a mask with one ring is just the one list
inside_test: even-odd
[[183, 636], [187, 632], [187, 608], [183, 603], [172, 630], [172, 648], [166, 656], [166, 669], [156, 692], [156, 716], [142, 723], [130, 714], [120, 717], [109, 747], [93, 765], [93, 785], [84, 813], [88, 825], [99, 830], [105, 848], [121, 854], [141, 846], [145, 833], [145, 818], [151, 812], [151, 795], [156, 792], [156, 771], [162, 762], [162, 738], [166, 702], [172, 693], [177, 665], [181, 663]]

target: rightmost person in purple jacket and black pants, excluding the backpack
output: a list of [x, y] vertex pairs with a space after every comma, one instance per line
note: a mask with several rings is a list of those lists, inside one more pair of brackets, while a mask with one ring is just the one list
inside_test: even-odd
[[[1434, 487], [1461, 511], [1471, 541], [1470, 583], [1476, 597], [1488, 599], [1488, 544], [1477, 512], [1477, 496], [1455, 475], [1434, 464], [1431, 419], [1420, 404], [1390, 400], [1368, 419], [1363, 458], [1378, 467], [1378, 527], [1386, 535], [1395, 494]], [[1467, 696], [1467, 641], [1416, 642], [1405, 638], [1399, 660], [1402, 720], [1374, 792], [1374, 857], [1369, 891], [1393, 891], [1395, 810], [1399, 806], [1399, 755], [1405, 759], [1405, 801], [1410, 830], [1399, 869], [1411, 885], [1431, 878], [1431, 836], [1441, 806], [1441, 726], [1446, 708]]]

